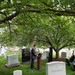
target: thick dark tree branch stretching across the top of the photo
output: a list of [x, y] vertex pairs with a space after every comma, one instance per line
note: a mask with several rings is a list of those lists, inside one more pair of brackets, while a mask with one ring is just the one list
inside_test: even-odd
[[[26, 12], [36, 12], [36, 13], [47, 13], [47, 10], [50, 11], [50, 12], [54, 12], [56, 15], [58, 16], [75, 16], [75, 11], [72, 11], [72, 10], [55, 10], [55, 9], [50, 9], [50, 8], [47, 8], [47, 9], [34, 9], [34, 8], [28, 8], [28, 9], [25, 9]], [[4, 23], [6, 21], [9, 21], [9, 20], [12, 20], [14, 17], [16, 17], [17, 15], [19, 15], [19, 11], [16, 11], [14, 14], [11, 14], [9, 16], [7, 16], [6, 18], [4, 19], [0, 19], [0, 24], [1, 23]]]

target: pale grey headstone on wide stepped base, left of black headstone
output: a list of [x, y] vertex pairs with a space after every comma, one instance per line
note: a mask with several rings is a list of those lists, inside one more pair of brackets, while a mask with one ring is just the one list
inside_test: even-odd
[[12, 54], [7, 56], [7, 64], [6, 67], [19, 66], [20, 62], [18, 61], [18, 55]]

